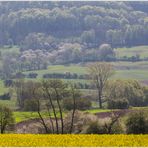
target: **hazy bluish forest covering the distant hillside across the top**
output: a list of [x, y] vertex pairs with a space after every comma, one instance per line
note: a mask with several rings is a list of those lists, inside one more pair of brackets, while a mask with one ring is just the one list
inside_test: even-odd
[[26, 49], [31, 37], [32, 48], [48, 50], [61, 42], [89, 48], [146, 45], [147, 8], [148, 2], [0, 2], [0, 45]]

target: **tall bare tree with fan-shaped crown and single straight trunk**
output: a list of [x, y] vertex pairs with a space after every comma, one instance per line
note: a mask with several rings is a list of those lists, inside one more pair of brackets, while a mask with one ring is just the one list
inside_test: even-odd
[[108, 79], [114, 74], [113, 66], [106, 62], [96, 62], [88, 65], [88, 71], [98, 92], [99, 106], [102, 108], [102, 95]]

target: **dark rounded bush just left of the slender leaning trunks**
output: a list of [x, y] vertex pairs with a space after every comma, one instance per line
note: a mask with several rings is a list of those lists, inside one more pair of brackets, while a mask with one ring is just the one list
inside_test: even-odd
[[35, 99], [26, 99], [24, 101], [24, 111], [37, 111], [38, 104]]

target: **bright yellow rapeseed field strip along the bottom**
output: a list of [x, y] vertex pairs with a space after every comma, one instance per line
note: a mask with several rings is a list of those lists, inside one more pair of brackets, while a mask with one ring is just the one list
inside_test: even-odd
[[0, 146], [148, 146], [148, 135], [3, 134]]

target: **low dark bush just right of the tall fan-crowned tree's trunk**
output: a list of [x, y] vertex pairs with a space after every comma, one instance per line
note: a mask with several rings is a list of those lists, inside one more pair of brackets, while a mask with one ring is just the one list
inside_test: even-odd
[[109, 109], [127, 109], [129, 108], [129, 102], [127, 99], [110, 99], [108, 101]]

